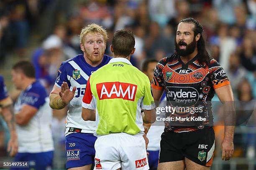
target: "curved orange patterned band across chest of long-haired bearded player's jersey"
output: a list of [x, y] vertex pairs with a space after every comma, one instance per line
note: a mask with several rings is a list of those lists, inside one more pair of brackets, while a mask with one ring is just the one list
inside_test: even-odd
[[[169, 75], [171, 75], [171, 76], [166, 77], [167, 72], [172, 72], [172, 73], [169, 73]], [[189, 72], [187, 74], [179, 74], [179, 73], [175, 72], [174, 70], [172, 70], [167, 65], [165, 65], [164, 69], [163, 69], [164, 80], [166, 82], [178, 83], [178, 84], [181, 84], [181, 83], [188, 84], [188, 83], [200, 82], [205, 78], [207, 73], [208, 73], [208, 70], [206, 70], [205, 68], [200, 68], [193, 72]], [[197, 77], [197, 76], [195, 76], [196, 74], [199, 74], [201, 76]]]

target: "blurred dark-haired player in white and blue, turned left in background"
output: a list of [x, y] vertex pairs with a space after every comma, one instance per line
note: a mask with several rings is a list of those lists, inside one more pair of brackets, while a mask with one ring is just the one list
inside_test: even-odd
[[22, 90], [14, 106], [19, 148], [13, 161], [29, 161], [29, 168], [36, 170], [51, 168], [54, 147], [47, 92], [30, 62], [16, 63], [12, 75], [15, 87]]

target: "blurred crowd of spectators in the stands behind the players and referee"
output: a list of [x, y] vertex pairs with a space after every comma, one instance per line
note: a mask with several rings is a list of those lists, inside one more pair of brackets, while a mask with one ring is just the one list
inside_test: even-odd
[[[110, 56], [113, 32], [133, 30], [136, 52], [131, 60], [141, 69], [144, 60], [160, 60], [174, 52], [175, 29], [186, 17], [202, 23], [207, 50], [226, 71], [236, 100], [255, 100], [256, 0], [1, 0], [0, 65], [13, 51], [20, 59], [29, 57], [36, 78], [49, 91], [61, 62], [82, 53], [81, 28], [97, 23], [108, 32], [105, 53]], [[31, 46], [36, 48], [28, 56]], [[60, 134], [59, 124], [64, 127], [63, 117], [53, 125], [55, 136]], [[235, 148], [241, 138], [253, 139], [242, 146], [253, 146], [255, 152], [252, 134], [239, 136]], [[237, 156], [246, 154], [242, 150]]]

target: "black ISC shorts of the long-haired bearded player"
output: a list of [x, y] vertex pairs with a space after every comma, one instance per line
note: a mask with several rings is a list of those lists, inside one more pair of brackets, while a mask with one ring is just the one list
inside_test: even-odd
[[164, 132], [161, 135], [159, 163], [184, 160], [212, 166], [215, 134], [212, 128], [193, 132]]

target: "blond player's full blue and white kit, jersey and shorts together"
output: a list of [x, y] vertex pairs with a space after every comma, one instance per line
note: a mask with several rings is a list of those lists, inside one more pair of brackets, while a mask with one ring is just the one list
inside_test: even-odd
[[[65, 144], [67, 152], [66, 168], [82, 167], [94, 163], [94, 144], [97, 139], [93, 133], [96, 130], [95, 121], [84, 121], [82, 119], [82, 98], [84, 96], [87, 80], [92, 72], [95, 72], [103, 65], [108, 64], [112, 57], [104, 55], [102, 62], [96, 67], [92, 67], [84, 60], [84, 55], [62, 62], [55, 85], [61, 87], [63, 82], [67, 82], [69, 89], [77, 87], [74, 98], [69, 103], [67, 112], [67, 124], [65, 133]], [[81, 133], [74, 133], [77, 128]], [[71, 132], [72, 131], [72, 132]]]

